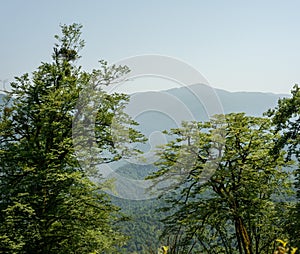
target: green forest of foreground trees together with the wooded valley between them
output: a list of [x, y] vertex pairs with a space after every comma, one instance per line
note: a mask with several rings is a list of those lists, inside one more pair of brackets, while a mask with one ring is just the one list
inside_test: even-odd
[[130, 97], [103, 89], [130, 70], [101, 60], [84, 71], [81, 25], [61, 32], [52, 62], [15, 78], [2, 98], [0, 253], [298, 253], [297, 85], [262, 116], [166, 130], [154, 165], [118, 169], [151, 180], [158, 198], [121, 199], [97, 166], [142, 154]]

